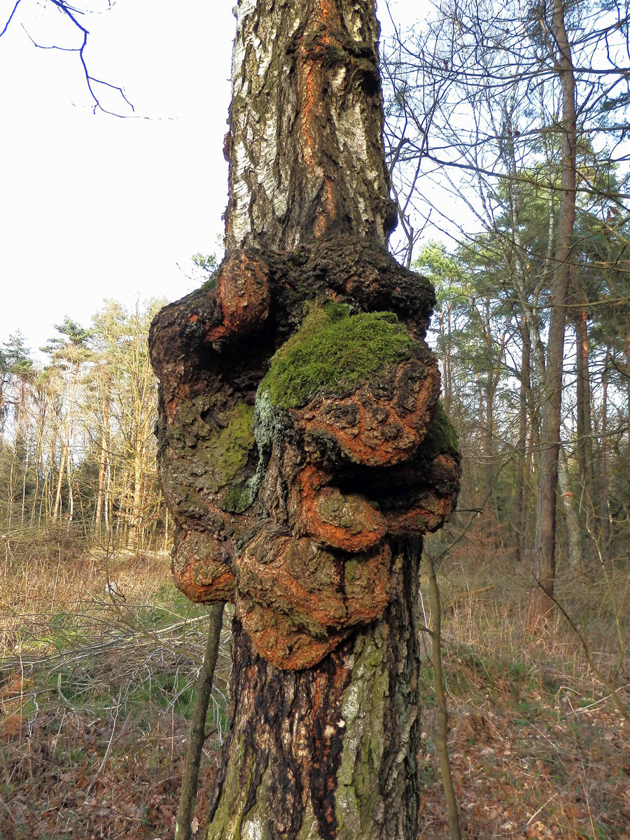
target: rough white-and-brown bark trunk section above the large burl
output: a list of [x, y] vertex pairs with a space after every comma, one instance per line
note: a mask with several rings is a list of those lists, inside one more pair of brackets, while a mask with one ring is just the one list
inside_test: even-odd
[[293, 249], [396, 224], [371, 0], [241, 0], [225, 152], [228, 250]]

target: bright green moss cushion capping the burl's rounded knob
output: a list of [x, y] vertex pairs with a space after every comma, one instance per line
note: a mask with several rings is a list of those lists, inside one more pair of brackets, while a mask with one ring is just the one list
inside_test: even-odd
[[298, 408], [318, 392], [370, 381], [412, 354], [414, 341], [393, 312], [350, 315], [345, 304], [313, 307], [302, 327], [271, 360], [261, 383], [273, 405]]

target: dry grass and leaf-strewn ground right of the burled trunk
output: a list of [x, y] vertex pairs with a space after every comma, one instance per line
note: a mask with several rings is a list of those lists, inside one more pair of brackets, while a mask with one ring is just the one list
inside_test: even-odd
[[[482, 535], [444, 561], [450, 752], [465, 837], [630, 840], [630, 722], [561, 615], [527, 630], [528, 570]], [[559, 575], [591, 662], [630, 711], [628, 570]], [[606, 598], [614, 592], [617, 616]], [[428, 617], [430, 620], [430, 617]], [[430, 650], [428, 650], [430, 654]], [[423, 838], [448, 837], [426, 675]]]

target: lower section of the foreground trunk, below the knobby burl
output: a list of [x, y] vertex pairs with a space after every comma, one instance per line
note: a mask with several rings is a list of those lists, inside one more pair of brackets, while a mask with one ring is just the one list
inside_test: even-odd
[[207, 840], [416, 837], [419, 559], [419, 544], [401, 549], [386, 615], [317, 668], [274, 668], [234, 621], [234, 717]]

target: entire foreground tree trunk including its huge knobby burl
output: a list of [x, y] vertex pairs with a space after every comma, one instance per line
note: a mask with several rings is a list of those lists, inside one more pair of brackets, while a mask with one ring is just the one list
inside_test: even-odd
[[207, 838], [417, 833], [417, 572], [459, 489], [386, 252], [372, 0], [240, 0], [226, 256], [150, 333], [173, 570], [233, 601], [232, 721]]

